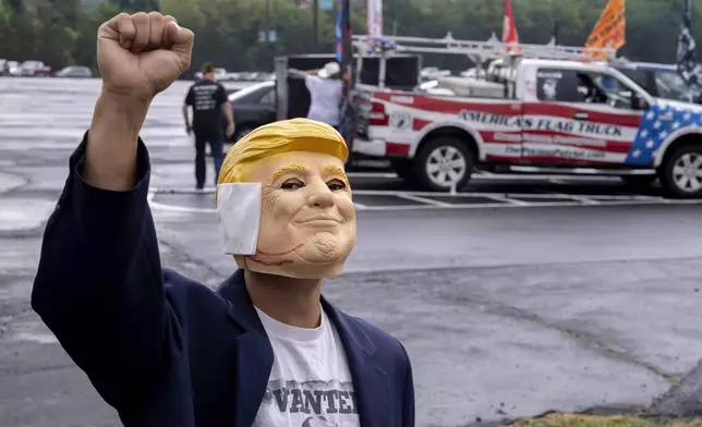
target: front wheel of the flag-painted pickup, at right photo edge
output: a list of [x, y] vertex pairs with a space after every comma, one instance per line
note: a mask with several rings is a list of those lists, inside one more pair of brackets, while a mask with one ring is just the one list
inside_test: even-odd
[[662, 166], [661, 184], [674, 198], [702, 197], [702, 146], [687, 145], [673, 152]]

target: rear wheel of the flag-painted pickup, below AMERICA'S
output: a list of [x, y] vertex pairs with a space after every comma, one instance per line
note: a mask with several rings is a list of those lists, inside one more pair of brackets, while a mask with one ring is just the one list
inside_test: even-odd
[[414, 174], [429, 191], [448, 192], [465, 188], [473, 173], [473, 154], [455, 137], [440, 136], [429, 141], [416, 156]]

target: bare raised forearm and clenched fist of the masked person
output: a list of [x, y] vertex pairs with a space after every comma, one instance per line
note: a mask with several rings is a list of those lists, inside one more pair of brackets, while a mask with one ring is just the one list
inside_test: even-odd
[[84, 179], [105, 190], [131, 188], [138, 134], [154, 97], [190, 66], [194, 36], [172, 16], [121, 13], [98, 29], [102, 90], [95, 103]]

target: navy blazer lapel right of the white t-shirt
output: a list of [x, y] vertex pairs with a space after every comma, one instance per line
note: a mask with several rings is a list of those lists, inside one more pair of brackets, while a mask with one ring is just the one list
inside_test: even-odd
[[394, 417], [398, 411], [391, 407], [388, 374], [373, 358], [375, 344], [353, 319], [324, 297], [322, 305], [337, 327], [347, 354], [361, 427], [395, 426]]

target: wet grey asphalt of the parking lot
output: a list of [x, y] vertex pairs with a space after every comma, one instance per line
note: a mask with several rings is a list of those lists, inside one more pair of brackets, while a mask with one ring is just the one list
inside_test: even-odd
[[[215, 285], [234, 264], [211, 188], [192, 191], [185, 89], [156, 99], [143, 133], [152, 208], [164, 264]], [[98, 90], [0, 78], [3, 427], [120, 425], [28, 304], [43, 227]], [[702, 390], [700, 368], [675, 388], [702, 357], [702, 206], [607, 179], [481, 174], [459, 195], [385, 171], [351, 180], [358, 245], [325, 294], [406, 344], [417, 426], [638, 410], [671, 387], [666, 407], [679, 408]]]

